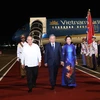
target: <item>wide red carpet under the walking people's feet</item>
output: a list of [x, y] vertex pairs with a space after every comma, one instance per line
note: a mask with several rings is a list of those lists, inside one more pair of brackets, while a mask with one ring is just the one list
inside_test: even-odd
[[21, 79], [18, 63], [0, 82], [0, 100], [100, 100], [100, 80], [76, 70], [77, 87], [61, 87], [62, 68], [59, 68], [57, 86], [50, 90], [48, 68], [39, 68], [37, 87], [28, 93], [26, 78]]

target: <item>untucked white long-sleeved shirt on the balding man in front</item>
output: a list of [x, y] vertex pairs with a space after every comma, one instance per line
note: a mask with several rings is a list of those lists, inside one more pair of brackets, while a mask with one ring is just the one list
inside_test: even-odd
[[32, 43], [23, 47], [21, 64], [28, 67], [38, 66], [39, 62], [41, 62], [41, 52], [40, 48], [37, 44]]

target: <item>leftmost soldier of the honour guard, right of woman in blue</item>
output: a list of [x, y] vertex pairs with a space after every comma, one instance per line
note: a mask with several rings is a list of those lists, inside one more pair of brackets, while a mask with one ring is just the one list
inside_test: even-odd
[[81, 43], [81, 55], [82, 55], [82, 62], [83, 62], [83, 66], [86, 66], [86, 48], [85, 48], [85, 38], [82, 39], [82, 43]]

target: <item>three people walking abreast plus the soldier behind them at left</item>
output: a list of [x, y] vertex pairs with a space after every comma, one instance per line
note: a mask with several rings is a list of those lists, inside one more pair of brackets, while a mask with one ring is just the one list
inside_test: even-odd
[[[21, 40], [25, 40], [21, 36]], [[25, 42], [25, 41], [21, 41]], [[55, 35], [50, 35], [49, 43], [45, 45], [44, 65], [48, 67], [49, 80], [51, 90], [55, 89], [59, 66], [62, 66], [61, 85], [64, 87], [76, 87], [75, 80], [75, 64], [77, 64], [76, 49], [72, 44], [71, 36], [66, 36], [66, 44], [61, 47], [61, 44], [56, 42]], [[38, 68], [41, 67], [42, 55], [40, 47], [33, 43], [33, 38], [28, 36], [25, 44], [21, 43], [17, 46], [17, 60], [20, 61], [21, 77], [27, 77], [28, 92], [36, 87], [38, 77]], [[19, 55], [19, 53], [21, 55]], [[25, 72], [23, 74], [23, 72]]]

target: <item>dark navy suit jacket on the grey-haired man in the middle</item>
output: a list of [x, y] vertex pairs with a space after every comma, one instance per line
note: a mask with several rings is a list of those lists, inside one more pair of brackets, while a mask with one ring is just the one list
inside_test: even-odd
[[62, 47], [60, 43], [55, 42], [55, 50], [53, 51], [51, 43], [46, 44], [45, 46], [45, 60], [44, 62], [48, 64], [48, 66], [52, 66], [54, 63], [56, 65], [60, 64], [62, 61]]

